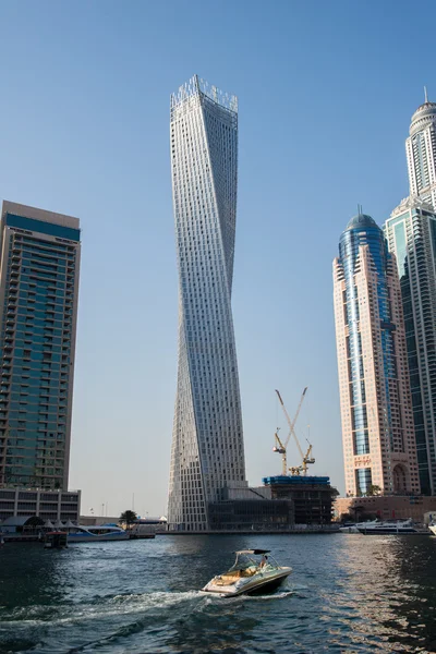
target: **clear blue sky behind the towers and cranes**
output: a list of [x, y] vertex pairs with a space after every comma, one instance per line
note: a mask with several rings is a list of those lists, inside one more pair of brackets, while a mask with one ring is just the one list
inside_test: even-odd
[[[233, 316], [247, 475], [298, 432], [343, 492], [331, 261], [358, 203], [408, 195], [404, 138], [436, 98], [433, 1], [0, 0], [0, 198], [81, 218], [70, 485], [82, 511], [167, 505], [178, 278], [169, 96], [239, 96]], [[289, 462], [298, 462], [290, 449]], [[106, 508], [105, 508], [106, 510]]]

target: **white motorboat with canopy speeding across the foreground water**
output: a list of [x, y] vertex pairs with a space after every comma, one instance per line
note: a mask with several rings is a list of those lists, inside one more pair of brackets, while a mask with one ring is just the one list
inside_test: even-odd
[[[269, 553], [269, 549], [235, 552], [237, 560], [230, 570], [214, 577], [202, 592], [234, 597], [277, 589], [292, 572], [292, 568], [279, 566], [272, 556], [268, 556]], [[262, 560], [256, 561], [252, 556], [262, 556]]]

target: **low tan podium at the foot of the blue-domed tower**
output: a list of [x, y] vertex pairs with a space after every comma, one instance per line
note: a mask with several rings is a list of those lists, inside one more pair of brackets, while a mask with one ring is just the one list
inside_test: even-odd
[[392, 520], [412, 518], [417, 522], [424, 522], [424, 513], [433, 512], [436, 518], [436, 497], [432, 496], [403, 496], [380, 495], [375, 497], [338, 497], [334, 504], [335, 517], [350, 514], [358, 521], [367, 516], [374, 516], [380, 520]]

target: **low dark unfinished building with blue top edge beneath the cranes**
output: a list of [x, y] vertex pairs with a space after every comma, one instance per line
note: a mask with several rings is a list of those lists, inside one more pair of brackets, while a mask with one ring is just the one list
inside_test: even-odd
[[295, 524], [329, 524], [338, 495], [330, 477], [278, 475], [264, 477], [272, 499], [292, 500]]

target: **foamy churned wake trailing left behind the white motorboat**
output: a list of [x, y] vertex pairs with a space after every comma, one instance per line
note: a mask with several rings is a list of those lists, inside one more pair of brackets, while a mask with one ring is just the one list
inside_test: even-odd
[[[241, 610], [246, 603], [272, 602], [292, 596], [294, 591], [286, 589], [265, 595], [216, 596], [199, 590], [182, 592], [155, 591], [94, 597], [86, 604], [35, 605], [11, 611], [2, 611], [0, 632], [8, 642], [20, 629], [24, 642], [37, 643], [40, 654], [59, 652], [122, 651], [131, 639], [141, 640], [144, 633], [153, 633], [154, 642], [166, 642], [168, 630], [195, 631], [202, 626], [207, 630], [216, 620], [229, 613]], [[252, 604], [254, 606], [254, 604]], [[195, 627], [195, 629], [194, 629]], [[65, 629], [77, 634], [75, 642], [62, 642]], [[192, 635], [193, 641], [194, 635]], [[22, 651], [33, 651], [22, 650]], [[141, 650], [147, 652], [147, 650]]]

